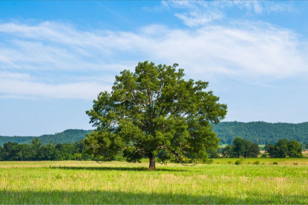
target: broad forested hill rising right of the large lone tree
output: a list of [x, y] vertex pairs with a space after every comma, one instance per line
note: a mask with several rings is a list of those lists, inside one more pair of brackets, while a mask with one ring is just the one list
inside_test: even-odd
[[276, 143], [278, 139], [297, 140], [308, 143], [308, 122], [267, 123], [267, 122], [220, 122], [213, 124], [213, 130], [223, 144], [232, 144], [236, 137], [241, 137], [257, 144]]

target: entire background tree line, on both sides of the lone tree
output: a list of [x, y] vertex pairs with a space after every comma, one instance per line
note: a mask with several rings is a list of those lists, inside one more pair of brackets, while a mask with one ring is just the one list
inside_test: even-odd
[[[296, 140], [279, 139], [276, 144], [266, 144], [265, 153], [261, 157], [303, 157], [302, 150], [305, 147]], [[251, 143], [237, 137], [232, 145], [224, 148], [209, 148], [206, 150], [208, 158], [218, 158], [221, 154], [225, 158], [256, 158], [260, 155], [258, 144]], [[157, 157], [157, 156], [156, 156]], [[75, 143], [50, 142], [43, 144], [38, 138], [32, 139], [30, 144], [18, 144], [16, 142], [6, 142], [0, 146], [0, 160], [2, 161], [41, 161], [41, 160], [97, 160], [87, 152], [84, 140]], [[123, 153], [115, 156], [113, 160], [123, 161]], [[176, 162], [176, 161], [175, 161]]]

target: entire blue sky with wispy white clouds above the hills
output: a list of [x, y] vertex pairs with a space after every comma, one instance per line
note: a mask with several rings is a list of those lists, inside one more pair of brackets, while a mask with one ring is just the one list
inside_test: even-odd
[[139, 61], [178, 63], [223, 121], [306, 122], [307, 1], [0, 1], [0, 135], [92, 129]]

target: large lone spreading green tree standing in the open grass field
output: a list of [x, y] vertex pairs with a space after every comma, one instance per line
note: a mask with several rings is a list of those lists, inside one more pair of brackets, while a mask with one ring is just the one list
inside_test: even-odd
[[96, 127], [85, 139], [88, 153], [97, 161], [110, 161], [123, 151], [128, 162], [155, 157], [181, 164], [205, 162], [206, 149], [219, 139], [211, 123], [224, 119], [227, 106], [205, 91], [208, 82], [184, 80], [184, 70], [139, 62], [135, 72], [115, 77], [111, 93], [99, 93], [86, 111]]

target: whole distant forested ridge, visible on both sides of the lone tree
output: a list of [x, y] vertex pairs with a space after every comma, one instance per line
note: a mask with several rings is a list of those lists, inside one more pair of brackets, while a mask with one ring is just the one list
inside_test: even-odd
[[[241, 137], [257, 144], [276, 143], [278, 139], [297, 140], [308, 144], [308, 122], [293, 123], [268, 123], [268, 122], [220, 122], [213, 124], [213, 130], [223, 144], [232, 144], [236, 137]], [[75, 141], [86, 138], [87, 133], [93, 130], [67, 129], [63, 132], [52, 135], [42, 135], [38, 138], [43, 144], [53, 141], [58, 143], [74, 143]], [[11, 141], [18, 144], [29, 144], [35, 136], [0, 136], [0, 145]]]

